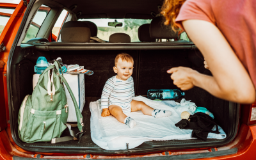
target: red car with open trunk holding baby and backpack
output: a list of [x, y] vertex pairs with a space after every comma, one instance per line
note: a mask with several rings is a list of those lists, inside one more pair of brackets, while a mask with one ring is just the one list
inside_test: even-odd
[[[126, 150], [104, 150], [93, 142], [89, 104], [100, 99], [106, 80], [115, 75], [113, 60], [116, 54], [127, 52], [134, 58], [132, 77], [136, 95], [147, 95], [149, 89], [176, 88], [166, 74], [166, 70], [172, 67], [191, 67], [211, 75], [204, 68], [202, 54], [186, 33], [172, 36], [161, 33], [159, 28], [151, 28], [150, 32], [140, 31], [140, 26], [150, 26], [152, 19], [159, 17], [162, 3], [157, 0], [23, 0], [19, 4], [0, 3], [0, 19], [10, 17], [6, 24], [0, 22], [4, 26], [0, 26], [3, 29], [0, 30], [0, 60], [5, 63], [0, 68], [0, 158], [256, 159], [256, 103], [228, 102], [196, 87], [186, 91], [184, 98], [209, 109], [227, 134], [226, 138], [145, 141]], [[12, 13], [6, 10], [12, 10]], [[63, 42], [63, 24], [77, 20], [96, 24], [96, 29], [90, 28], [90, 34], [99, 37], [100, 41], [91, 38], [86, 43]], [[109, 22], [119, 24], [113, 27]], [[109, 36], [113, 33], [125, 33], [131, 42], [111, 42]], [[156, 36], [152, 40], [153, 34]], [[22, 99], [33, 92], [34, 66], [39, 56], [45, 56], [47, 60], [61, 57], [64, 63], [83, 65], [94, 72], [84, 81], [86, 104], [82, 115], [85, 131], [79, 141], [24, 143], [19, 138], [19, 108]]]

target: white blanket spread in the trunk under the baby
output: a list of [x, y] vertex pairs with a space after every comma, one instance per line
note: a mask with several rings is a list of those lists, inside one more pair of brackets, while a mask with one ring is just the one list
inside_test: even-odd
[[[192, 130], [179, 129], [175, 124], [181, 120], [177, 109], [167, 106], [155, 100], [145, 97], [134, 97], [134, 100], [143, 101], [154, 109], [166, 109], [172, 111], [172, 115], [164, 118], [154, 118], [143, 115], [141, 111], [126, 114], [136, 121], [136, 126], [130, 128], [116, 120], [114, 116], [101, 116], [100, 100], [90, 103], [91, 136], [95, 144], [106, 150], [122, 150], [138, 147], [144, 141], [167, 141], [167, 140], [188, 140], [191, 138]], [[221, 129], [220, 134], [209, 133], [207, 138], [223, 139], [226, 134]]]

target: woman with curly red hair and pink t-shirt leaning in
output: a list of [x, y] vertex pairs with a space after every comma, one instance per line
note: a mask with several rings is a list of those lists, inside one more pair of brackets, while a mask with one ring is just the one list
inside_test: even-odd
[[[184, 29], [205, 58], [212, 76], [186, 67], [171, 68], [181, 90], [203, 88], [220, 99], [253, 103], [256, 86], [256, 1], [165, 0], [162, 14]], [[207, 63], [206, 63], [207, 61]]]

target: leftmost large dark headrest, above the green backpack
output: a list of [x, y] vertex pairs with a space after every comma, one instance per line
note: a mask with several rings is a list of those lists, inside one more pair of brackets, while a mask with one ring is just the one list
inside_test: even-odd
[[81, 21], [65, 22], [61, 29], [61, 42], [90, 42], [90, 37], [90, 28]]

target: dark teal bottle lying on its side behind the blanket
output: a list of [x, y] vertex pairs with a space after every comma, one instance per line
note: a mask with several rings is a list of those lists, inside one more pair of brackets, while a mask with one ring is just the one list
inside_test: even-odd
[[148, 99], [179, 99], [182, 95], [180, 90], [148, 90]]

